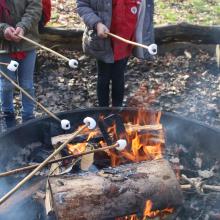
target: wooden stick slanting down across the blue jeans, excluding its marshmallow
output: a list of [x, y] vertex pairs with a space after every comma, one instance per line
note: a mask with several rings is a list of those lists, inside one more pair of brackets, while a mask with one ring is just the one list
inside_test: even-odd
[[7, 74], [2, 72], [1, 70], [0, 70], [0, 75], [2, 75], [8, 81], [10, 81], [17, 89], [19, 89], [24, 95], [26, 95], [31, 101], [33, 101], [37, 106], [39, 106], [48, 115], [50, 115], [52, 118], [54, 118], [58, 122], [61, 122], [60, 118], [58, 118], [55, 114], [53, 114], [51, 111], [49, 111], [47, 108], [45, 108], [41, 103], [37, 102], [28, 92], [26, 92], [23, 88], [21, 88], [14, 80], [12, 80]]

